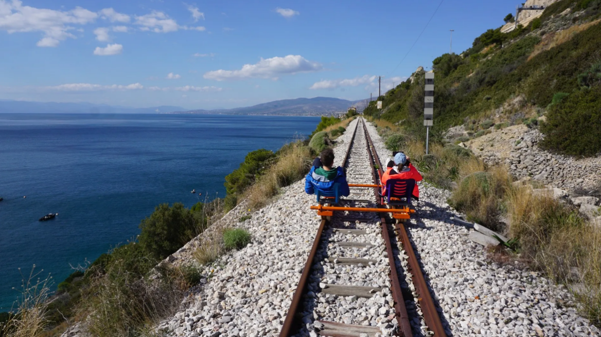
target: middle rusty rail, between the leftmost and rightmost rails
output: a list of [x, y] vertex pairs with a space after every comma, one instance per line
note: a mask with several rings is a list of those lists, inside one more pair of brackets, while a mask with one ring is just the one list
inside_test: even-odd
[[[371, 155], [369, 146], [369, 134], [367, 132], [367, 128], [365, 127], [365, 122], [362, 124], [363, 130], [365, 131], [365, 139], [368, 140], [368, 142], [365, 143], [367, 145], [367, 154], [370, 158], [371, 176], [373, 177], [374, 184], [377, 184], [378, 179], [376, 175], [376, 169], [373, 166], [374, 158]], [[382, 199], [379, 195], [377, 187], [374, 188], [374, 194], [376, 196], [376, 200], [379, 200], [378, 206], [382, 206]], [[390, 278], [390, 284], [392, 288], [392, 300], [394, 301], [394, 311], [397, 317], [398, 328], [400, 329], [402, 337], [412, 337], [413, 332], [411, 330], [411, 324], [409, 323], [409, 315], [407, 314], [407, 308], [405, 307], [405, 300], [403, 299], [401, 283], [398, 279], [397, 265], [394, 262], [394, 251], [392, 251], [392, 243], [390, 242], [390, 235], [388, 233], [388, 224], [386, 224], [386, 218], [384, 218], [384, 216], [380, 217], [380, 228], [382, 228], [382, 237], [386, 243], [386, 253], [388, 253], [388, 264], [390, 265], [390, 273], [388, 276]]]

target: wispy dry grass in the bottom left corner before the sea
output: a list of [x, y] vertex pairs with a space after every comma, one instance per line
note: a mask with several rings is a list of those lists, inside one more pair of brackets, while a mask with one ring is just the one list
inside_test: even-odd
[[43, 270], [35, 272], [34, 265], [28, 278], [23, 278], [16, 313], [3, 326], [0, 325], [0, 336], [41, 337], [44, 334], [52, 278], [40, 279], [41, 272]]

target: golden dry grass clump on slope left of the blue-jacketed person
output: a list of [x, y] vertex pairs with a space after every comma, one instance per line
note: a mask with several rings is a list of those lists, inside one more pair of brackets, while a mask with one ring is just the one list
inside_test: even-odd
[[311, 166], [311, 149], [294, 142], [280, 155], [278, 160], [260, 176], [246, 192], [251, 208], [263, 207], [278, 194], [279, 189], [302, 179]]

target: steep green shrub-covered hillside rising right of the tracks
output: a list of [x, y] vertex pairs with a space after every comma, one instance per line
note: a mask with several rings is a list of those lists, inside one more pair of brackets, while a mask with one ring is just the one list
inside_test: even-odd
[[[567, 8], [572, 12], [562, 16]], [[495, 124], [534, 126], [533, 118], [546, 113], [549, 122], [541, 128], [546, 149], [578, 156], [598, 154], [600, 16], [601, 0], [560, 0], [528, 27], [519, 26], [508, 34], [490, 29], [462, 55], [436, 58], [432, 138], [441, 140], [455, 125], [465, 125], [469, 137], [481, 136]], [[424, 74], [415, 73], [386, 92], [379, 98], [381, 118], [398, 124], [406, 134], [424, 138], [423, 87]], [[567, 97], [554, 104], [558, 94]], [[364, 112], [374, 117], [379, 113], [375, 101]], [[582, 137], [581, 127], [595, 132]]]

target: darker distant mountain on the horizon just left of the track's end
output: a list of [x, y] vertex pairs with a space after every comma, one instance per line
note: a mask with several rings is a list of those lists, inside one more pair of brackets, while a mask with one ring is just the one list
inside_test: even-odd
[[[222, 113], [227, 115], [332, 115], [346, 112], [361, 101], [341, 100], [331, 97], [295, 98], [257, 104], [251, 107], [219, 110], [188, 110], [172, 113]], [[362, 109], [361, 109], [362, 110]]]

